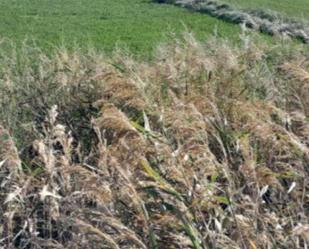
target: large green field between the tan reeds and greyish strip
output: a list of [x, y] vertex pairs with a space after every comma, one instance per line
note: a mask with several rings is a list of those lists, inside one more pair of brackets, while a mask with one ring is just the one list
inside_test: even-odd
[[149, 55], [166, 34], [185, 27], [204, 39], [217, 29], [236, 40], [239, 27], [151, 0], [0, 0], [0, 38], [20, 44], [33, 39], [46, 51], [55, 46], [112, 51], [118, 44]]

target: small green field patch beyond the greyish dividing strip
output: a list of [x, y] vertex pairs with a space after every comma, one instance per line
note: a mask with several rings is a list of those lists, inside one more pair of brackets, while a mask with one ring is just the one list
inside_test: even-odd
[[308, 0], [224, 0], [244, 8], [269, 9], [288, 16], [309, 19]]

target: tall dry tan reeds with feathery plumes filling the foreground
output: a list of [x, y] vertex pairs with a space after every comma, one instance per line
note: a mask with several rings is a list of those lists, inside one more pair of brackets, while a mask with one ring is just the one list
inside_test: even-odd
[[306, 248], [308, 57], [287, 53], [185, 34], [150, 62], [1, 58], [0, 247]]

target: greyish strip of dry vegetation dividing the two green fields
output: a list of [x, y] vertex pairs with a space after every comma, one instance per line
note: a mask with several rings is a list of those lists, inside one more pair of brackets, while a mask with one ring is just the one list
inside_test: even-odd
[[277, 12], [237, 9], [236, 7], [213, 0], [155, 0], [170, 3], [193, 11], [206, 13], [226, 22], [244, 24], [250, 29], [272, 36], [280, 35], [309, 43], [309, 25], [293, 18], [283, 17]]

